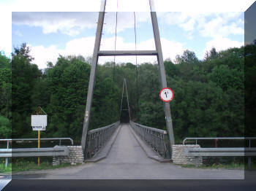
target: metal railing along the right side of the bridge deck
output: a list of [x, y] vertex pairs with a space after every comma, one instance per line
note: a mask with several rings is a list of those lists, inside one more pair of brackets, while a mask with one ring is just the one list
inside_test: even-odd
[[145, 125], [129, 121], [136, 133], [156, 152], [164, 158], [171, 158], [170, 141], [166, 130], [150, 128]]

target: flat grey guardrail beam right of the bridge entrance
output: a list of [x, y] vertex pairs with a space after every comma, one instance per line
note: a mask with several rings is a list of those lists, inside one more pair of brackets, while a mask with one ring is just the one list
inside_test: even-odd
[[186, 148], [185, 155], [189, 157], [253, 157], [256, 148]]

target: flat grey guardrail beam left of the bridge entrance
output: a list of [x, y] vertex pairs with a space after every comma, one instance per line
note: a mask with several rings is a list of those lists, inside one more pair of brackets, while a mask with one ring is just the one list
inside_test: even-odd
[[53, 157], [67, 156], [69, 149], [65, 146], [50, 148], [0, 149], [0, 157]]

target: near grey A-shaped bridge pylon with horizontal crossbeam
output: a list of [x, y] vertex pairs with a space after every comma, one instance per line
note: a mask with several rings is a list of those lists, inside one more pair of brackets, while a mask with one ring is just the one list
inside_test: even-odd
[[[97, 33], [94, 43], [94, 53], [93, 58], [91, 61], [91, 73], [90, 73], [90, 79], [89, 79], [89, 87], [88, 87], [88, 93], [87, 93], [87, 101], [86, 101], [86, 112], [83, 120], [83, 133], [82, 133], [82, 139], [81, 144], [83, 147], [83, 153], [85, 153], [86, 148], [86, 136], [87, 131], [89, 129], [89, 122], [91, 117], [91, 104], [93, 99], [93, 93], [94, 93], [94, 82], [95, 82], [95, 76], [97, 71], [97, 63], [99, 56], [110, 56], [110, 55], [157, 55], [157, 61], [159, 66], [159, 77], [162, 88], [167, 87], [166, 82], [166, 75], [165, 75], [165, 66], [164, 66], [164, 60], [162, 56], [162, 46], [160, 42], [160, 36], [159, 36], [159, 28], [157, 23], [157, 13], [154, 10], [154, 1], [148, 0], [150, 9], [151, 9], [151, 22], [153, 26], [153, 32], [154, 32], [154, 42], [156, 45], [156, 50], [105, 50], [105, 51], [99, 51], [100, 42], [102, 39], [102, 28], [104, 23], [104, 16], [105, 16], [105, 7], [106, 7], [106, 0], [102, 0], [102, 4], [100, 7], [99, 17], [98, 17], [98, 23], [97, 23]], [[167, 134], [170, 140], [170, 144], [174, 144], [174, 136], [173, 136], [173, 123], [172, 118], [170, 115], [170, 103], [164, 103], [164, 109], [165, 109], [165, 121], [167, 126]]]

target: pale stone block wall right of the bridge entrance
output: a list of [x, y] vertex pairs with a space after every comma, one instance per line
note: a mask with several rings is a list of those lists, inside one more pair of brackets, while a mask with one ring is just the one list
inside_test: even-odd
[[175, 164], [202, 165], [202, 157], [188, 157], [185, 155], [185, 148], [200, 148], [199, 144], [173, 144], [172, 160]]

